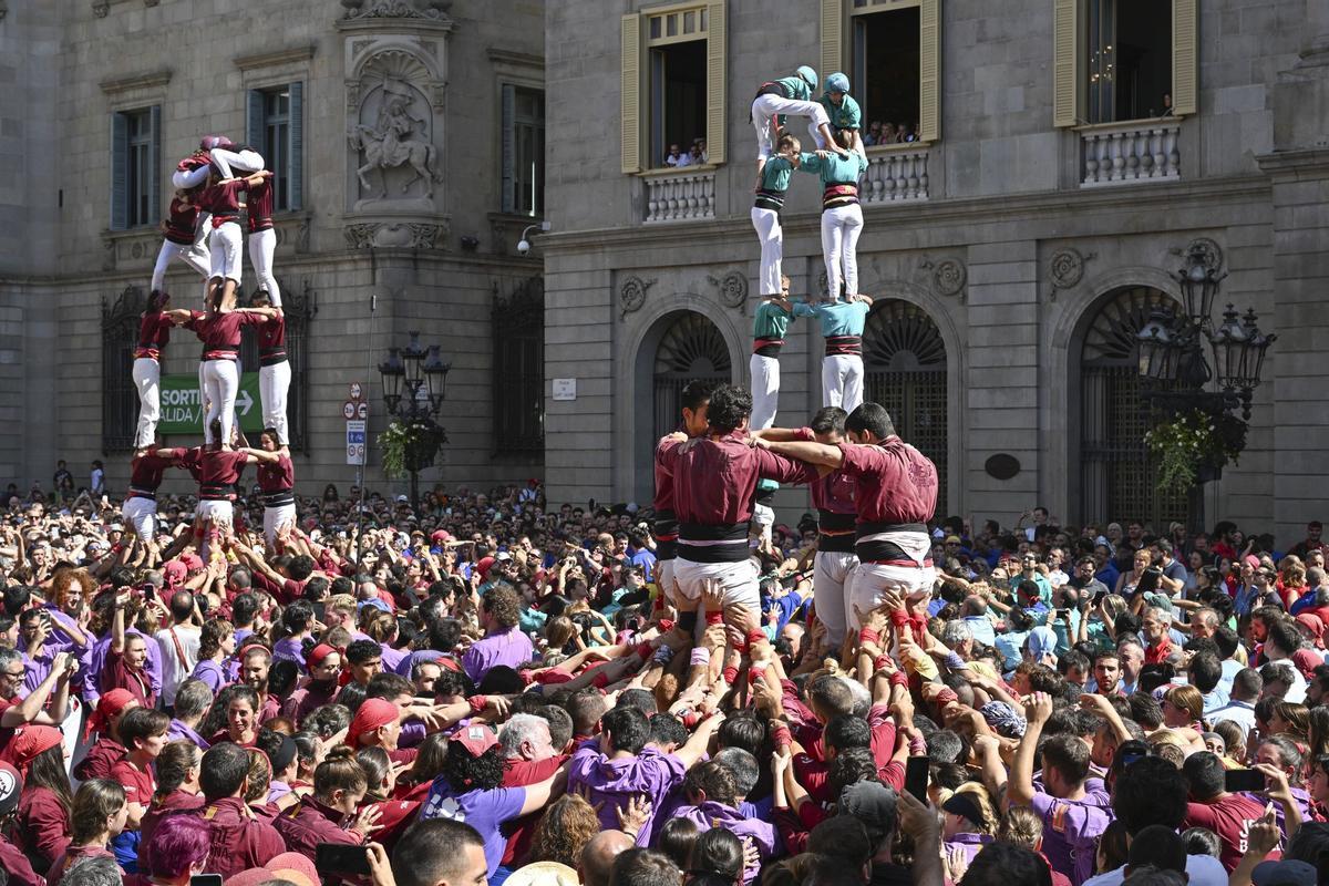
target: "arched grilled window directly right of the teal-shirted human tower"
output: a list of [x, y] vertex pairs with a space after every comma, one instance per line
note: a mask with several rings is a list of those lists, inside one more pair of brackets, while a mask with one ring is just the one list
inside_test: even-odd
[[864, 400], [890, 413], [900, 437], [937, 466], [937, 507], [946, 507], [946, 344], [928, 312], [877, 299], [863, 331]]

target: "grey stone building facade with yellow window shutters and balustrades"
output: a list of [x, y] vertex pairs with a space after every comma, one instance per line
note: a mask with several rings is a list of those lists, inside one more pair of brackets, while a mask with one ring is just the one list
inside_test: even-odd
[[[646, 499], [678, 380], [747, 379], [759, 258], [747, 106], [763, 81], [811, 64], [868, 76], [853, 85], [867, 125], [872, 89], [892, 84], [863, 73], [881, 58], [863, 40], [888, 45], [898, 28], [878, 25], [896, 21], [918, 58], [904, 117], [916, 139], [868, 151], [860, 291], [880, 302], [867, 388], [942, 468], [938, 510], [1010, 522], [1045, 505], [1063, 521], [1164, 529], [1185, 513], [1152, 491], [1131, 343], [1152, 306], [1179, 296], [1180, 256], [1197, 244], [1227, 272], [1215, 323], [1231, 300], [1280, 333], [1240, 465], [1207, 487], [1208, 519], [1300, 539], [1329, 493], [1316, 347], [1329, 323], [1329, 12], [1143, 5], [549, 4], [546, 375], [577, 392], [546, 404], [550, 498]], [[1099, 52], [1112, 49], [1107, 20], [1115, 61]], [[1143, 46], [1130, 60], [1127, 40]], [[658, 151], [692, 134], [708, 162], [659, 169]], [[824, 287], [817, 198], [795, 174], [795, 295]], [[820, 335], [803, 321], [791, 333], [776, 424], [820, 406]], [[801, 491], [780, 495], [788, 517], [805, 506]]]

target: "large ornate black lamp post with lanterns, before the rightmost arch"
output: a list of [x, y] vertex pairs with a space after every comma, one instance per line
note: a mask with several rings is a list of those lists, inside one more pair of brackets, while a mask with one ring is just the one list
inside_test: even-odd
[[[1256, 325], [1253, 308], [1240, 317], [1228, 304], [1223, 323], [1215, 328], [1211, 320], [1219, 283], [1227, 274], [1219, 274], [1209, 262], [1208, 250], [1192, 243], [1185, 263], [1176, 272], [1181, 288], [1180, 306], [1155, 308], [1138, 333], [1139, 375], [1146, 401], [1168, 416], [1199, 413], [1209, 420], [1209, 426], [1232, 432], [1244, 446], [1247, 425], [1251, 421], [1251, 401], [1260, 385], [1265, 352], [1277, 335], [1265, 335]], [[1240, 319], [1239, 319], [1240, 317]], [[1208, 339], [1213, 353], [1211, 368], [1203, 340]], [[1207, 389], [1216, 383], [1217, 391]], [[1233, 413], [1240, 409], [1241, 417]], [[1188, 517], [1192, 530], [1204, 529], [1204, 484], [1217, 480], [1223, 464], [1196, 466], [1195, 482], [1188, 490]]]

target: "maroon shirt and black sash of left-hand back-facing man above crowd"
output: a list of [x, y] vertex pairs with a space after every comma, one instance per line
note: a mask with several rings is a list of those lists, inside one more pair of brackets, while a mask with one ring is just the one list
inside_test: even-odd
[[[738, 432], [663, 441], [659, 462], [674, 477], [674, 513], [679, 521], [679, 557], [696, 562], [747, 559], [747, 523], [756, 481], [809, 484], [816, 468], [747, 444]], [[692, 546], [690, 541], [743, 541], [744, 545]]]

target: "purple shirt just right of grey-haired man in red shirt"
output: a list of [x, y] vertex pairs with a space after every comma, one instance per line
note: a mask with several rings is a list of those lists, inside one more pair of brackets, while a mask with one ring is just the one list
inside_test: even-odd
[[567, 790], [586, 785], [590, 788], [593, 806], [599, 808], [599, 824], [605, 830], [618, 828], [617, 809], [626, 808], [637, 794], [646, 794], [655, 804], [651, 817], [646, 820], [637, 834], [638, 846], [650, 846], [651, 830], [655, 826], [655, 812], [664, 796], [683, 784], [687, 769], [683, 761], [671, 753], [661, 753], [645, 748], [635, 757], [610, 760], [599, 751], [599, 740], [583, 741], [573, 754], [567, 769]]

